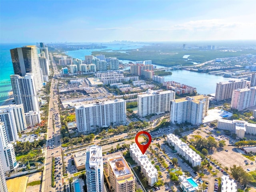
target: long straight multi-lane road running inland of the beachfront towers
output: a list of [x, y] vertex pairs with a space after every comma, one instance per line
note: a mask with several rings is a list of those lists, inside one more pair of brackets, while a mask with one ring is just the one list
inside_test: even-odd
[[[50, 57], [53, 61], [52, 55]], [[54, 76], [58, 74], [56, 65], [53, 62]], [[46, 156], [44, 164], [44, 172], [42, 179], [42, 192], [55, 192], [62, 191], [63, 182], [62, 179], [62, 163], [61, 157], [61, 141], [60, 141], [60, 114], [58, 110], [58, 93], [57, 93], [58, 80], [52, 78], [51, 88], [50, 88], [50, 101], [49, 101], [49, 115], [48, 115], [48, 129], [47, 129], [47, 142], [46, 142]], [[54, 115], [55, 114], [55, 115]], [[53, 148], [54, 145], [54, 148]], [[60, 157], [60, 176], [55, 176], [56, 181], [58, 180], [58, 186], [52, 188], [52, 157]], [[56, 173], [57, 174], [57, 173]], [[61, 185], [61, 186], [60, 186]], [[58, 189], [58, 190], [56, 190]]]

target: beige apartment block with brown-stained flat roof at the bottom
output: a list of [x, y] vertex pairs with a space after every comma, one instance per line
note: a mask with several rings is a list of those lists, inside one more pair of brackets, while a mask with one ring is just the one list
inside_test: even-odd
[[122, 155], [108, 157], [111, 191], [135, 192], [135, 177]]

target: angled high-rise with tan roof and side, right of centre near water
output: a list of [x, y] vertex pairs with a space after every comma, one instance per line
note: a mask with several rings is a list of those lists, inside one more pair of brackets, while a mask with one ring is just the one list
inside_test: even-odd
[[200, 125], [207, 115], [209, 108], [209, 98], [206, 95], [187, 96], [172, 100], [170, 104], [170, 123], [181, 124], [190, 122]]

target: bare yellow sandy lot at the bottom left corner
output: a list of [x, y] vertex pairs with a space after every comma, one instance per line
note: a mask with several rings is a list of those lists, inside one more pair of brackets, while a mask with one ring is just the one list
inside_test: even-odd
[[28, 176], [22, 176], [7, 180], [6, 183], [8, 192], [26, 192], [27, 182]]

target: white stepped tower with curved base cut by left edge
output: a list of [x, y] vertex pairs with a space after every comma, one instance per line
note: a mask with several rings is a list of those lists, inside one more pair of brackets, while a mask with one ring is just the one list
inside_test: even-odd
[[16, 161], [14, 146], [8, 143], [6, 129], [3, 122], [0, 122], [0, 158], [2, 159], [3, 169], [5, 172], [9, 173], [19, 166]]

